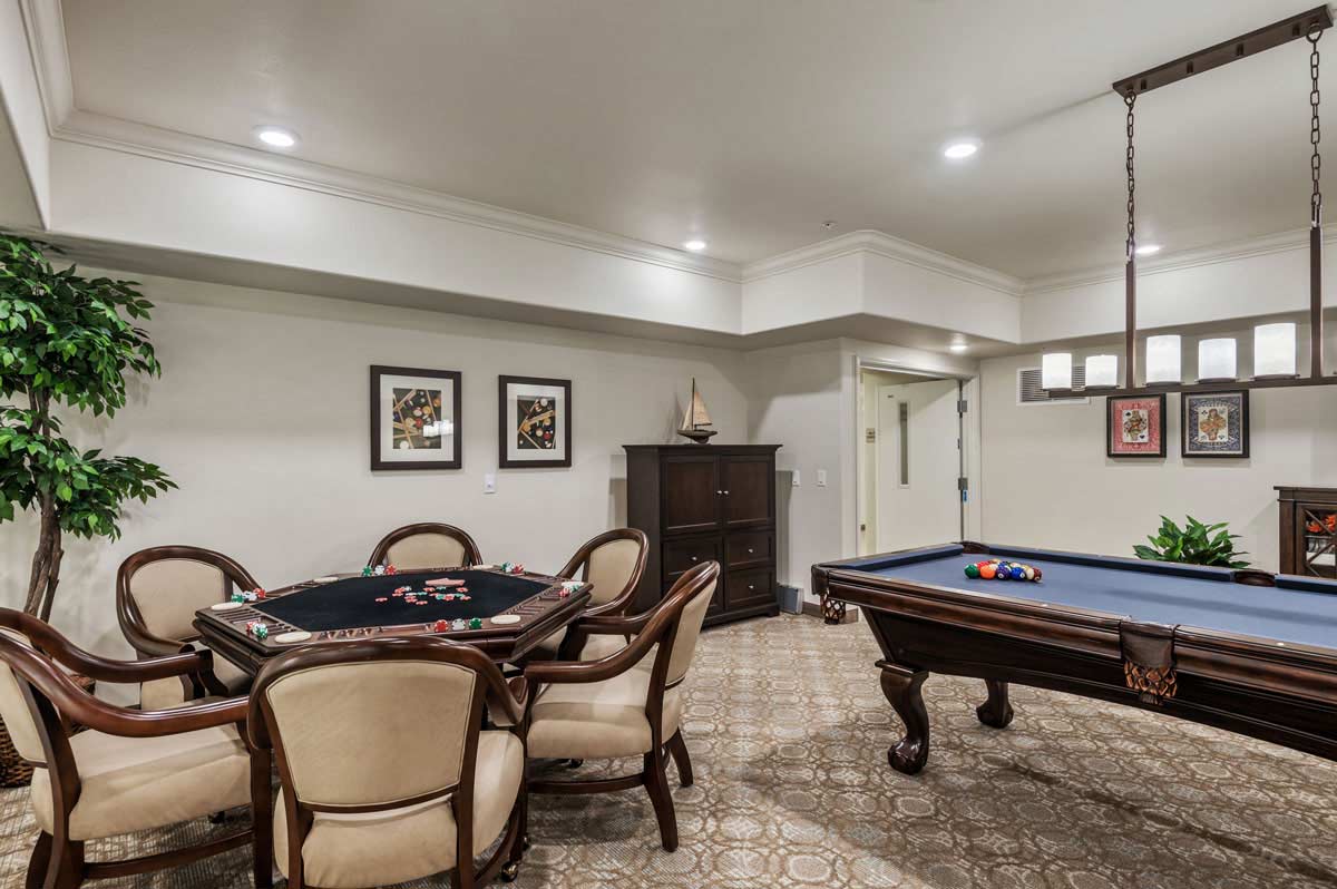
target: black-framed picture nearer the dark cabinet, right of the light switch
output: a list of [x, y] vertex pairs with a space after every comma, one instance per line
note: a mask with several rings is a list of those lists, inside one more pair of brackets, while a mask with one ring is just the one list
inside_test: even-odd
[[571, 381], [497, 377], [503, 469], [571, 465]]

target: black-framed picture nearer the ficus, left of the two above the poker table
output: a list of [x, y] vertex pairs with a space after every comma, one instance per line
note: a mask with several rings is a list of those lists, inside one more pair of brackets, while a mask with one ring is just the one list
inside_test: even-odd
[[460, 372], [372, 365], [372, 469], [460, 468]]

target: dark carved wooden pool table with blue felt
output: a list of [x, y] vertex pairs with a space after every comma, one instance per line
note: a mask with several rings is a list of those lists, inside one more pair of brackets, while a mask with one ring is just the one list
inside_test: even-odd
[[[1042, 579], [965, 576], [991, 557]], [[905, 774], [928, 762], [931, 672], [983, 679], [995, 729], [1020, 683], [1337, 759], [1337, 582], [968, 541], [817, 564], [813, 588], [868, 619]]]

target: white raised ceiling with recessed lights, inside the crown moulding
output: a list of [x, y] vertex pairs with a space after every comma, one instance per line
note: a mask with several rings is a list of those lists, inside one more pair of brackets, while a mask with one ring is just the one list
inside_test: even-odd
[[[834, 219], [1021, 278], [1122, 259], [1114, 79], [1304, 5], [63, 3], [83, 111], [245, 146], [283, 124], [306, 160], [734, 262]], [[1139, 102], [1144, 241], [1308, 222], [1306, 49]], [[957, 134], [985, 144], [952, 164]]]

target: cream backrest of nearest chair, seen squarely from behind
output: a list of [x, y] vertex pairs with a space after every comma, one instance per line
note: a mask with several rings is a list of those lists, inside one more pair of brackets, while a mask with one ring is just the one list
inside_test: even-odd
[[287, 793], [309, 809], [389, 809], [472, 789], [488, 667], [441, 639], [291, 651], [255, 678], [251, 739], [277, 751]]

